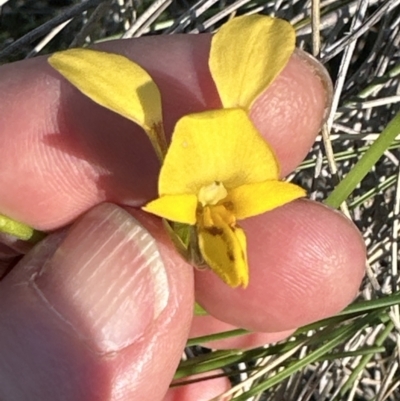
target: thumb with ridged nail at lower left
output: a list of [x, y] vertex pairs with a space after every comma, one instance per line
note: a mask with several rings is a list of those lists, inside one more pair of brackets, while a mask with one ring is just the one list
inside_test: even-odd
[[102, 204], [0, 283], [1, 400], [163, 399], [189, 330], [193, 278], [159, 224], [146, 225], [151, 235]]

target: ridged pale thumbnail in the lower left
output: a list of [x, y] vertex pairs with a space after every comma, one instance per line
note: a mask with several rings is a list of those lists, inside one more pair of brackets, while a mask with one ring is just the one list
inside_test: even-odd
[[135, 343], [169, 297], [154, 238], [111, 204], [94, 208], [71, 228], [33, 285], [56, 316], [100, 354]]

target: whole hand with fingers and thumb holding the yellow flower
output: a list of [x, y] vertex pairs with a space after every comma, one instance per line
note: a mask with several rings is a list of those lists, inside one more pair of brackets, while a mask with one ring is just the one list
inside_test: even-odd
[[[209, 42], [177, 35], [101, 48], [150, 72], [171, 133], [180, 116], [219, 105]], [[161, 400], [189, 331], [244, 327], [257, 334], [216, 345], [251, 346], [330, 316], [356, 295], [364, 245], [339, 213], [298, 200], [244, 221], [250, 284], [231, 289], [212, 272], [193, 272], [160, 221], [135, 209], [156, 197], [159, 169], [138, 127], [85, 98], [44, 58], [1, 67], [0, 88], [0, 210], [56, 230], [0, 283], [4, 401]], [[314, 141], [326, 98], [315, 66], [294, 54], [254, 105], [283, 175]], [[103, 201], [131, 207], [96, 206]], [[192, 321], [194, 297], [211, 316]], [[206, 385], [218, 394], [226, 383], [214, 386]]]

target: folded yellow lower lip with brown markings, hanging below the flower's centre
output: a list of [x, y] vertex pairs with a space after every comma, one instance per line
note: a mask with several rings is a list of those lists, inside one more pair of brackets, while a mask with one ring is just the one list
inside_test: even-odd
[[246, 236], [240, 227], [230, 227], [213, 216], [214, 225], [198, 226], [199, 248], [207, 265], [230, 287], [247, 287], [249, 268]]

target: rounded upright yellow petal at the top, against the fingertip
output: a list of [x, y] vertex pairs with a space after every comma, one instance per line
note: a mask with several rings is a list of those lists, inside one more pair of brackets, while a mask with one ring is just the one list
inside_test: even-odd
[[285, 67], [295, 47], [286, 21], [262, 15], [233, 18], [213, 36], [209, 66], [222, 104], [250, 108]]

